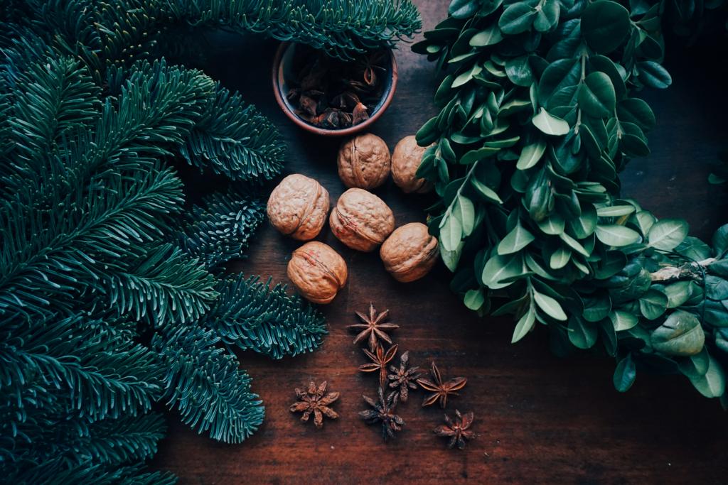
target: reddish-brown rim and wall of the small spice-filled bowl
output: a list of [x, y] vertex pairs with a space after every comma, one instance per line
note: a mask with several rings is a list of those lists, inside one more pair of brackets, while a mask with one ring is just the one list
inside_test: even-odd
[[286, 79], [290, 79], [290, 65], [293, 64], [291, 61], [296, 55], [296, 45], [297, 44], [294, 44], [293, 42], [282, 42], [278, 47], [273, 61], [273, 93], [278, 105], [280, 105], [280, 108], [283, 110], [283, 113], [285, 113], [286, 116], [293, 121], [293, 123], [305, 129], [307, 132], [329, 137], [353, 135], [370, 127], [371, 124], [379, 119], [379, 116], [387, 110], [389, 103], [392, 103], [392, 97], [395, 95], [395, 88], [397, 87], [397, 61], [395, 61], [394, 52], [392, 52], [392, 49], [389, 49], [389, 59], [392, 60], [392, 64], [387, 71], [387, 81], [385, 81], [386, 84], [384, 84], [384, 91], [382, 92], [381, 99], [372, 109], [369, 119], [362, 121], [360, 124], [356, 124], [353, 127], [343, 129], [325, 129], [316, 127], [309, 124], [304, 119], [299, 118], [295, 112], [296, 107], [291, 105], [286, 97], [286, 93], [288, 92], [288, 83], [286, 82]]

